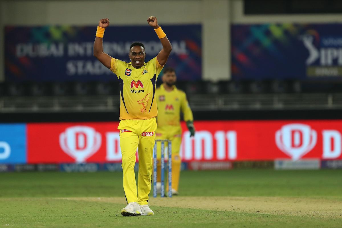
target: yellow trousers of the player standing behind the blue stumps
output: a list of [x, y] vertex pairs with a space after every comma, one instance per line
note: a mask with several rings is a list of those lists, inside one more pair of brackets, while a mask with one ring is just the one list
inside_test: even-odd
[[[172, 152], [172, 188], [178, 191], [179, 179], [181, 174], [181, 158], [179, 150], [182, 143], [182, 128], [181, 126], [162, 126], [158, 127], [156, 139], [166, 139], [171, 141]], [[161, 143], [157, 142], [157, 181], [160, 182], [160, 158], [161, 158]], [[165, 143], [165, 148], [168, 148], [168, 143]], [[168, 188], [168, 186], [167, 186]]]

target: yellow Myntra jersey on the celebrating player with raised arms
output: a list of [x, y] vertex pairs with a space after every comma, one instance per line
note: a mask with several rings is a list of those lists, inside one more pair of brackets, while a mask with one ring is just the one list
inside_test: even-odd
[[157, 57], [139, 69], [112, 58], [110, 70], [120, 82], [120, 120], [145, 120], [156, 117], [156, 81], [163, 69]]

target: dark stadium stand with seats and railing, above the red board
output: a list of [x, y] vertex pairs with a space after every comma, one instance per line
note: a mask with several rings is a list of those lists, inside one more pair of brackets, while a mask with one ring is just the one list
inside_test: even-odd
[[[179, 81], [177, 88], [197, 119], [329, 119], [342, 109], [341, 82]], [[0, 83], [2, 122], [117, 120], [119, 104], [118, 81]]]

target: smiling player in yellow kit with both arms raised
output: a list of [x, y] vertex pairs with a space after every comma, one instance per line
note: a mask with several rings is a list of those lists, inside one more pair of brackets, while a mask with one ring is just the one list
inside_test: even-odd
[[[149, 17], [160, 39], [163, 49], [158, 55], [144, 62], [144, 44], [132, 43], [129, 50], [130, 63], [112, 58], [103, 52], [102, 39], [109, 19], [101, 19], [97, 26], [94, 42], [94, 56], [109, 68], [120, 82], [120, 148], [122, 154], [123, 189], [127, 206], [121, 210], [123, 216], [154, 215], [148, 206], [151, 190], [153, 147], [157, 129], [156, 81], [172, 50], [165, 32], [157, 23], [156, 17]], [[134, 34], [134, 33], [133, 33]], [[140, 34], [136, 35], [140, 39]], [[136, 187], [134, 165], [135, 151], [139, 151], [138, 188]]]

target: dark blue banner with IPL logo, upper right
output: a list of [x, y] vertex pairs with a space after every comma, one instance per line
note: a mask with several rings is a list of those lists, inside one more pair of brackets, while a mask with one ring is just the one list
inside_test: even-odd
[[232, 78], [342, 77], [342, 24], [232, 26]]

